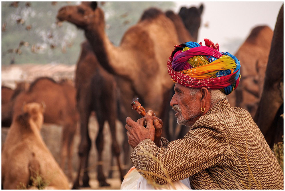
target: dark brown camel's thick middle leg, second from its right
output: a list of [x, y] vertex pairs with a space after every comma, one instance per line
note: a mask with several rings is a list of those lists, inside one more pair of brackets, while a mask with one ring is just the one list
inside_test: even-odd
[[103, 173], [103, 161], [102, 161], [102, 151], [103, 151], [103, 146], [104, 146], [104, 137], [103, 137], [103, 127], [104, 127], [104, 122], [105, 120], [103, 117], [98, 116], [98, 123], [99, 123], [99, 131], [98, 135], [96, 138], [96, 147], [98, 151], [98, 166], [97, 166], [97, 179], [99, 181], [99, 186], [110, 186], [106, 182], [106, 178]]

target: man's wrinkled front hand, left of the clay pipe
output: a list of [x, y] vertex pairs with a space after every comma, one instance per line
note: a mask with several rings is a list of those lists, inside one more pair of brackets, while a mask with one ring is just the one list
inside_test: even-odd
[[[148, 115], [148, 113], [146, 114]], [[127, 136], [129, 137], [129, 145], [134, 149], [144, 139], [150, 139], [154, 141], [154, 125], [151, 115], [146, 118], [146, 127], [143, 126], [143, 119], [138, 119], [137, 122], [133, 121], [131, 117], [127, 117], [125, 128]]]

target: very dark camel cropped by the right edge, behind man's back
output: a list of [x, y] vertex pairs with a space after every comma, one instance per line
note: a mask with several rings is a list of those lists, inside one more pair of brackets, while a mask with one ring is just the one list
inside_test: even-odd
[[280, 8], [270, 53], [266, 67], [263, 92], [257, 112], [255, 122], [264, 135], [268, 145], [273, 148], [274, 143], [283, 141], [283, 64], [284, 64], [284, 12], [283, 6]]

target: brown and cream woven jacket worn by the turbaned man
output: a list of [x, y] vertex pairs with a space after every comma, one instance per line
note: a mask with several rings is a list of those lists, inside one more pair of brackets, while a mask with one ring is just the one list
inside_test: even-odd
[[[131, 153], [136, 169], [166, 184], [158, 159], [174, 182], [187, 177], [192, 189], [283, 189], [283, 172], [251, 115], [223, 99], [200, 117], [183, 139], [162, 148], [145, 139]], [[146, 173], [146, 175], [142, 172]], [[148, 173], [150, 172], [150, 173]]]

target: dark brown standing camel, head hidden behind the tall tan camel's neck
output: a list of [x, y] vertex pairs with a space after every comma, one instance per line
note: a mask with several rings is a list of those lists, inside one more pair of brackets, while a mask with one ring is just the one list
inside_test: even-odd
[[[75, 84], [77, 90], [77, 109], [80, 116], [81, 142], [79, 150], [85, 150], [87, 154], [82, 156], [82, 153], [79, 153], [80, 158], [83, 157], [83, 159], [80, 160], [80, 167], [76, 180], [74, 181], [73, 188], [75, 189], [78, 189], [79, 187], [82, 166], [84, 169], [87, 169], [88, 167], [88, 156], [91, 148], [91, 141], [88, 134], [88, 122], [91, 111], [96, 112], [99, 123], [99, 132], [96, 139], [99, 163], [97, 167], [97, 179], [99, 181], [99, 186], [110, 186], [110, 184], [106, 182], [102, 169], [102, 151], [104, 146], [103, 126], [105, 121], [108, 121], [109, 123], [112, 136], [112, 153], [117, 159], [121, 180], [123, 180], [123, 172], [119, 160], [120, 147], [116, 139], [115, 125], [115, 120], [117, 119], [117, 85], [113, 75], [106, 72], [102, 66], [99, 65], [89, 43], [84, 42], [81, 47], [81, 55], [76, 68]], [[89, 187], [87, 170], [84, 171], [82, 182], [82, 186]]]

